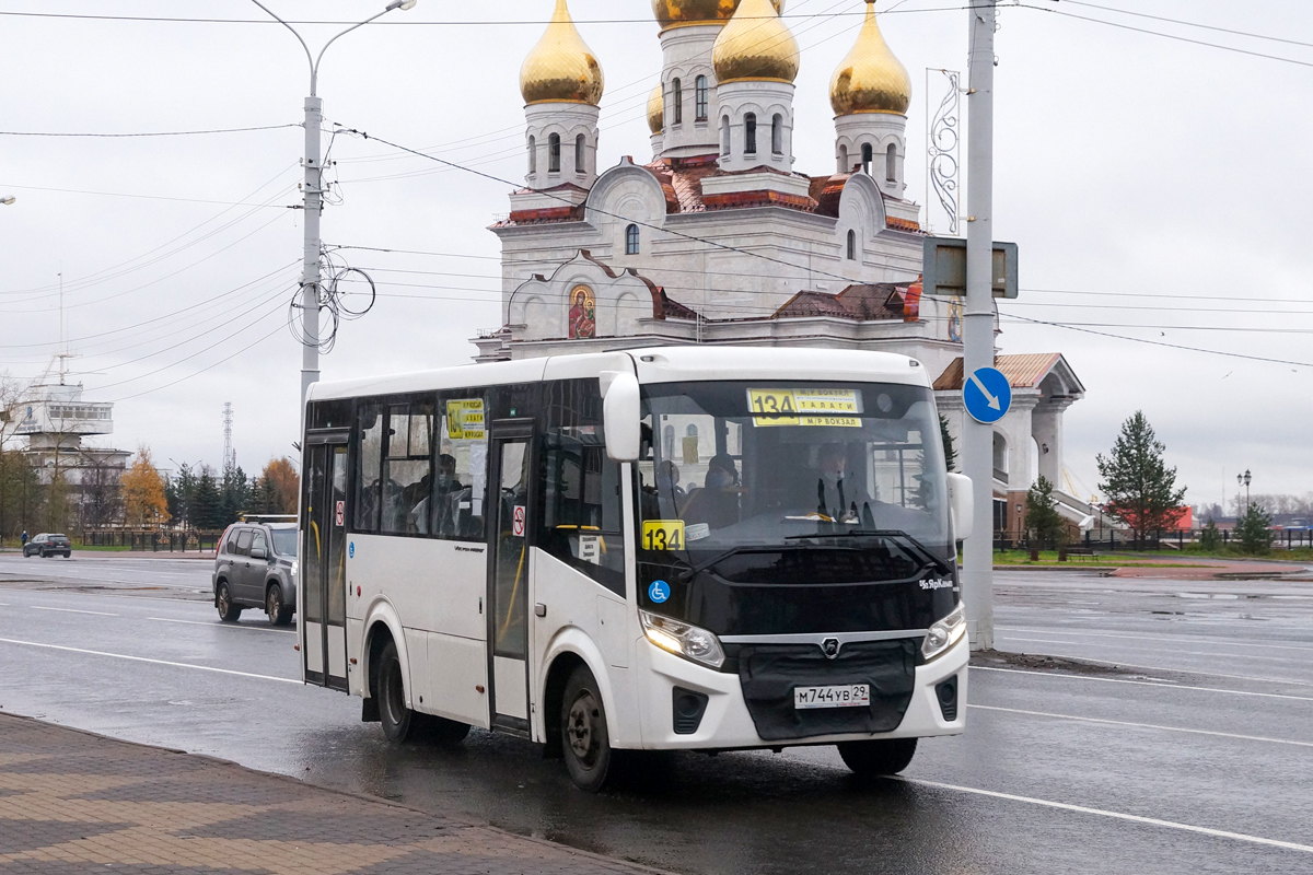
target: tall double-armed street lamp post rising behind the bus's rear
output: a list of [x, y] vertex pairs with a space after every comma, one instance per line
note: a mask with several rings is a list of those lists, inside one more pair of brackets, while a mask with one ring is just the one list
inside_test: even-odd
[[387, 7], [383, 8], [376, 16], [365, 18], [360, 24], [347, 28], [336, 37], [324, 43], [324, 47], [319, 50], [318, 55], [310, 51], [310, 46], [306, 41], [301, 38], [297, 29], [289, 25], [286, 21], [280, 18], [272, 9], [260, 3], [260, 0], [251, 0], [255, 5], [264, 9], [273, 17], [278, 24], [291, 31], [291, 35], [297, 38], [301, 47], [306, 50], [306, 60], [310, 62], [310, 96], [306, 97], [306, 181], [305, 181], [305, 253], [302, 260], [301, 270], [301, 425], [302, 432], [305, 430], [305, 417], [306, 417], [306, 395], [310, 392], [310, 384], [319, 380], [319, 215], [323, 211], [323, 164], [320, 156], [320, 142], [319, 134], [320, 127], [323, 127], [323, 101], [319, 98], [319, 62], [323, 60], [324, 52], [328, 51], [328, 46], [334, 45], [341, 37], [345, 37], [352, 30], [364, 28], [370, 21], [376, 18], [382, 18], [393, 9], [410, 9], [415, 5], [418, 0], [391, 0]]

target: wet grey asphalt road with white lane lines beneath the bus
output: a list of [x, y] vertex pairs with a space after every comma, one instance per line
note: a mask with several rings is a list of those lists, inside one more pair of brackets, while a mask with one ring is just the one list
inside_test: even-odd
[[999, 649], [1095, 668], [974, 666], [907, 781], [797, 748], [588, 796], [517, 740], [389, 745], [295, 682], [294, 635], [193, 601], [209, 571], [0, 556], [0, 707], [680, 872], [1313, 871], [1313, 584], [1001, 573]]

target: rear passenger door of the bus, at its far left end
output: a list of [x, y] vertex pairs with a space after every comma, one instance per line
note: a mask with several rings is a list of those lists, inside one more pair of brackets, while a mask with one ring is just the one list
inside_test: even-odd
[[301, 653], [307, 683], [347, 690], [347, 445], [310, 436], [301, 510]]

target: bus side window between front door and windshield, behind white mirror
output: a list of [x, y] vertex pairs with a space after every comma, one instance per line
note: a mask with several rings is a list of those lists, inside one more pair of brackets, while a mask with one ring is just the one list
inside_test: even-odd
[[620, 463], [607, 457], [596, 379], [546, 386], [538, 546], [625, 594]]

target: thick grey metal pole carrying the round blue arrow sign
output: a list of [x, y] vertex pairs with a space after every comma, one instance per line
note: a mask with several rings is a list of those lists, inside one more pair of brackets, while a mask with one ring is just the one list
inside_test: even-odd
[[[966, 306], [962, 312], [964, 374], [994, 366], [994, 0], [970, 8], [970, 83], [966, 139]], [[993, 518], [994, 428], [965, 417], [962, 463], [976, 484], [976, 519]], [[989, 527], [966, 539], [962, 601], [972, 649], [994, 647], [994, 544]]]

